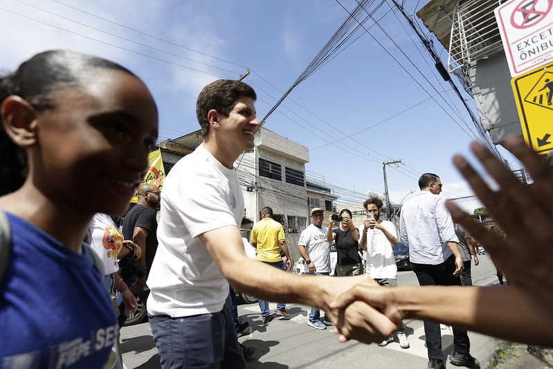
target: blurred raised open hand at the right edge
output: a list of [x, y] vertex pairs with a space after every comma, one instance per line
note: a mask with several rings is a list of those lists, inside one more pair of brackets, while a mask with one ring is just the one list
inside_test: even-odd
[[472, 143], [471, 150], [498, 183], [499, 190], [491, 190], [462, 156], [453, 158], [457, 169], [507, 237], [476, 224], [452, 202], [448, 201], [446, 206], [453, 220], [484, 245], [498, 269], [514, 285], [536, 298], [549, 299], [549, 306], [553, 306], [553, 258], [544, 256], [553, 251], [553, 170], [520, 138], [508, 138], [507, 148], [525, 165], [534, 179], [532, 185], [523, 185], [480, 143]]

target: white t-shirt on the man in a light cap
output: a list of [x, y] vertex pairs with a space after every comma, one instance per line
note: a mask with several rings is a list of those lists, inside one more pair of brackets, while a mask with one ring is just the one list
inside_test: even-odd
[[[318, 273], [330, 273], [330, 245], [327, 240], [327, 227], [317, 228], [309, 224], [300, 235], [299, 246], [305, 246], [309, 259], [315, 264]], [[305, 273], [309, 273], [307, 264]]]

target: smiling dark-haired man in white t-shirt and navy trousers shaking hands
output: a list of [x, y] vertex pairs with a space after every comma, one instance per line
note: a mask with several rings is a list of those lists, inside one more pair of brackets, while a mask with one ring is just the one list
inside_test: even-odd
[[[244, 196], [233, 164], [254, 147], [260, 124], [255, 98], [255, 91], [237, 80], [204, 87], [196, 106], [203, 143], [176, 163], [163, 183], [159, 243], [147, 280], [149, 323], [163, 369], [246, 368], [225, 305], [228, 282], [262, 300], [323, 308], [338, 321], [338, 311], [329, 305], [369, 281], [361, 276], [315, 281], [246, 256], [239, 231]], [[393, 332], [395, 323], [372, 311], [379, 327]], [[348, 323], [341, 321], [339, 327], [349, 330]], [[370, 330], [353, 332], [382, 339]]]

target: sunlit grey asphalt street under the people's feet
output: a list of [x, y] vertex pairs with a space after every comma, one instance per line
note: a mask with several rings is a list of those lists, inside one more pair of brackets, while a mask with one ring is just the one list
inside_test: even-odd
[[[480, 265], [472, 267], [473, 285], [497, 285], [495, 273], [489, 257], [480, 255]], [[399, 271], [398, 282], [399, 285], [417, 285], [411, 271]], [[276, 304], [271, 303], [270, 308], [275, 312]], [[239, 316], [250, 324], [239, 341], [256, 349], [247, 361], [249, 368], [426, 368], [428, 363], [421, 321], [404, 321], [410, 348], [400, 348], [397, 338], [381, 348], [353, 341], [339, 343], [332, 327], [327, 330], [309, 327], [309, 307], [305, 305], [289, 304], [287, 312], [290, 318], [275, 316], [264, 325], [259, 305], [239, 305]], [[471, 354], [480, 360], [482, 368], [486, 368], [497, 348], [496, 339], [473, 332], [469, 332], [469, 337]], [[125, 368], [161, 368], [149, 323], [123, 327], [121, 346]], [[446, 326], [442, 326], [442, 349], [444, 355], [453, 352], [453, 334]], [[448, 367], [451, 368], [451, 364], [448, 363]]]

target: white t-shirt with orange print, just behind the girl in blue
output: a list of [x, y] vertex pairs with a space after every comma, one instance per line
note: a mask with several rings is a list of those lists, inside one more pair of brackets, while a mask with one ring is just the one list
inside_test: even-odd
[[89, 236], [91, 248], [102, 260], [105, 275], [118, 271], [117, 254], [123, 247], [123, 233], [120, 233], [111, 217], [96, 213], [90, 223]]

